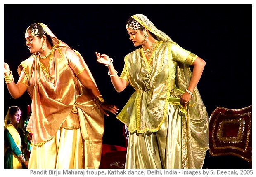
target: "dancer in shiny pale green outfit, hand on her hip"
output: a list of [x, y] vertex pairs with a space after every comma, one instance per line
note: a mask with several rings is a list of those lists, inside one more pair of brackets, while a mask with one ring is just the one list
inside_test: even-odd
[[209, 121], [197, 84], [205, 61], [142, 14], [131, 16], [126, 29], [141, 47], [125, 56], [120, 76], [113, 59], [96, 52], [117, 92], [135, 89], [117, 116], [130, 132], [126, 168], [202, 168]]

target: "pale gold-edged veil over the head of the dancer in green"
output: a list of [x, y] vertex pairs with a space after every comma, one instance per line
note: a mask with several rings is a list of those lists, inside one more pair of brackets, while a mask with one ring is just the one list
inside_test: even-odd
[[142, 15], [142, 14], [136, 14], [136, 15], [131, 16], [131, 18], [138, 21], [144, 28], [149, 30], [154, 35], [156, 35], [158, 40], [162, 40], [162, 41], [166, 41], [166, 42], [173, 42], [171, 37], [166, 35], [161, 30], [157, 29], [156, 26], [154, 26], [154, 24], [147, 18], [147, 16]]

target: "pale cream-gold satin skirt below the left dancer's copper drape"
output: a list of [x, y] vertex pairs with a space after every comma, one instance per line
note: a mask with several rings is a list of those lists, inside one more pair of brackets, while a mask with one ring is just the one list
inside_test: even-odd
[[55, 137], [40, 145], [40, 148], [33, 146], [30, 156], [33, 157], [28, 163], [30, 169], [85, 168], [81, 130], [64, 128], [57, 130]]

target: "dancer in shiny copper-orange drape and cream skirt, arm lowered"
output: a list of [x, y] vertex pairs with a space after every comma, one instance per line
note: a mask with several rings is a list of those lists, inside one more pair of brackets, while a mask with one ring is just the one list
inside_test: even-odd
[[104, 102], [81, 54], [45, 24], [29, 26], [25, 39], [32, 55], [18, 66], [18, 82], [7, 63], [4, 72], [13, 98], [27, 90], [32, 99], [28, 168], [99, 168], [103, 114], [117, 107]]

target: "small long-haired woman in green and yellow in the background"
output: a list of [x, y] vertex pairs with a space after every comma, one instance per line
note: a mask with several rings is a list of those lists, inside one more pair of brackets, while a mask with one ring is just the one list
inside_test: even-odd
[[22, 153], [24, 136], [18, 126], [22, 112], [18, 106], [9, 107], [5, 116], [5, 168], [28, 168], [28, 162]]

